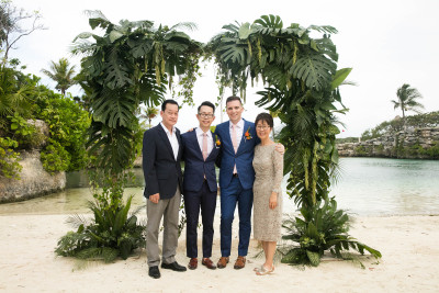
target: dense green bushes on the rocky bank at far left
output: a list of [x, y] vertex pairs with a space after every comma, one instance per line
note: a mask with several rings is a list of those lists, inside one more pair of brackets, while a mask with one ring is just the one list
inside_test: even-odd
[[[3, 145], [8, 142], [8, 148], [3, 147], [4, 168], [0, 174], [19, 178], [19, 153], [41, 146], [43, 167], [50, 173], [85, 168], [88, 161], [85, 147], [85, 133], [90, 124], [88, 113], [70, 97], [41, 86], [38, 77], [23, 75], [16, 69], [18, 60], [11, 64], [12, 67], [3, 65], [0, 68], [0, 134], [8, 139], [3, 140]], [[36, 131], [34, 120], [47, 124], [48, 137]], [[8, 168], [7, 161], [10, 161]]]

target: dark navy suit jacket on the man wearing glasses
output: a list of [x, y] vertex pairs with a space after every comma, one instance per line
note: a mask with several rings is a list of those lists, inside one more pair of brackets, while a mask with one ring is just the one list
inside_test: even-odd
[[181, 135], [184, 159], [183, 190], [200, 191], [205, 174], [209, 189], [212, 192], [217, 191], [215, 160], [219, 155], [219, 148], [215, 145], [214, 134], [212, 134], [212, 139], [214, 147], [206, 160], [204, 160], [200, 144], [196, 139], [196, 132], [187, 132]]

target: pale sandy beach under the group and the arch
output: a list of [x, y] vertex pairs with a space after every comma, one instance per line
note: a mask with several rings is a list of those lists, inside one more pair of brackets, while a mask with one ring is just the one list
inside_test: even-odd
[[[255, 275], [262, 262], [250, 244], [243, 270], [161, 270], [148, 277], [145, 250], [114, 263], [91, 262], [77, 268], [71, 258], [56, 257], [58, 238], [71, 228], [67, 215], [0, 216], [0, 291], [2, 292], [439, 292], [439, 216], [356, 217], [350, 234], [379, 249], [376, 261], [361, 257], [365, 269], [352, 261], [326, 259], [317, 268], [278, 263], [271, 275]], [[236, 222], [236, 221], [235, 221]], [[219, 221], [215, 219], [213, 260], [219, 257]], [[234, 227], [236, 226], [236, 223]], [[233, 252], [236, 259], [235, 227]], [[199, 234], [200, 239], [200, 234]], [[199, 246], [199, 251], [201, 251]], [[187, 266], [184, 236], [177, 260]]]

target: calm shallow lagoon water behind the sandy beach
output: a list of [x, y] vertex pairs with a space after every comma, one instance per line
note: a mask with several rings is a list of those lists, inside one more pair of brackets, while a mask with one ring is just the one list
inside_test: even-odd
[[[330, 196], [338, 207], [361, 216], [439, 215], [439, 161], [382, 158], [342, 158], [341, 178], [333, 184]], [[144, 205], [143, 172], [135, 169], [137, 181], [125, 190], [134, 195], [133, 206]], [[284, 180], [284, 185], [286, 178]], [[284, 196], [285, 192], [284, 192]], [[67, 189], [44, 198], [0, 204], [4, 214], [87, 213], [87, 201], [93, 200], [82, 172], [68, 174]], [[296, 211], [292, 200], [284, 201], [284, 212]]]

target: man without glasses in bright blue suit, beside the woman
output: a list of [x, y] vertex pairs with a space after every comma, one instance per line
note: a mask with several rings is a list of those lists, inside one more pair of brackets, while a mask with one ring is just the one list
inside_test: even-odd
[[[235, 269], [243, 269], [251, 233], [251, 206], [254, 202], [255, 170], [252, 167], [255, 146], [260, 143], [255, 123], [241, 119], [243, 103], [238, 97], [226, 100], [229, 121], [216, 126], [221, 148], [221, 255], [217, 267], [225, 268], [229, 261], [232, 246], [232, 224], [236, 203], [239, 214], [239, 245]], [[280, 153], [284, 147], [277, 147]]]

